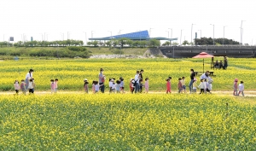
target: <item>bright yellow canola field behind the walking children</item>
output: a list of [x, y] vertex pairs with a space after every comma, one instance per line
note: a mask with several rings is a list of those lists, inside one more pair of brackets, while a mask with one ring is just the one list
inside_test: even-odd
[[[221, 60], [222, 58], [216, 58]], [[185, 77], [189, 90], [190, 68], [202, 72], [202, 59], [116, 59], [116, 60], [20, 60], [0, 61], [0, 90], [14, 90], [15, 79], [26, 77], [30, 68], [34, 69], [33, 77], [37, 90], [49, 90], [49, 80], [59, 79], [59, 90], [83, 90], [83, 80], [98, 80], [102, 67], [107, 78], [125, 78], [125, 90], [129, 90], [130, 78], [136, 71], [143, 69], [143, 78], [149, 78], [149, 90], [166, 90], [166, 78], [172, 77], [172, 91], [177, 91], [177, 78]], [[214, 71], [213, 90], [233, 90], [234, 78], [243, 80], [246, 90], [255, 90], [255, 59], [229, 58], [227, 70], [213, 70], [210, 59], [205, 59], [205, 71]], [[200, 76], [200, 75], [199, 75]], [[197, 77], [199, 79], [199, 76]], [[197, 83], [199, 84], [199, 82]]]

